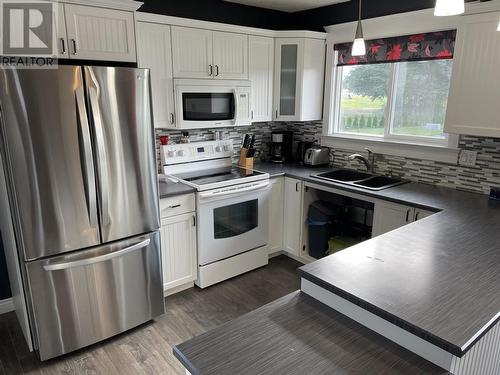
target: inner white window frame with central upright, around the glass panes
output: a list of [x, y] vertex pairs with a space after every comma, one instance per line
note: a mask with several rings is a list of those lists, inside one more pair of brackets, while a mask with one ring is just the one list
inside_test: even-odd
[[[337, 52], [335, 52], [335, 61], [337, 61]], [[411, 63], [411, 62], [410, 62]], [[391, 143], [402, 143], [402, 144], [414, 144], [430, 147], [456, 147], [457, 140], [451, 134], [444, 133], [444, 138], [432, 138], [418, 135], [402, 135], [391, 133], [391, 128], [394, 125], [394, 111], [395, 111], [395, 96], [393, 95], [397, 92], [397, 82], [398, 75], [400, 74], [400, 63], [388, 63], [390, 64], [390, 74], [389, 80], [387, 82], [387, 105], [384, 111], [384, 133], [383, 135], [370, 135], [370, 134], [358, 134], [350, 133], [340, 130], [340, 117], [341, 117], [341, 100], [342, 100], [342, 77], [344, 66], [337, 66], [336, 63], [333, 65], [335, 70], [333, 73], [334, 77], [334, 91], [332, 92], [332, 109], [333, 109], [333, 124], [331, 124], [330, 132], [328, 135], [334, 137], [342, 138], [352, 138], [367, 141], [384, 141]], [[444, 119], [443, 119], [444, 122]]]

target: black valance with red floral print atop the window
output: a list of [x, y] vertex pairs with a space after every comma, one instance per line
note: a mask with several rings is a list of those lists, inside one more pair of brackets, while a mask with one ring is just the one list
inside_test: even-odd
[[338, 65], [451, 59], [456, 30], [366, 41], [366, 55], [352, 56], [352, 43], [336, 44]]

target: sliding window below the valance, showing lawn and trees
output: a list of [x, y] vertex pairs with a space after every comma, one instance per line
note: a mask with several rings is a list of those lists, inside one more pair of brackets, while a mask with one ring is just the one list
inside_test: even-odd
[[446, 144], [453, 60], [337, 67], [334, 133]]

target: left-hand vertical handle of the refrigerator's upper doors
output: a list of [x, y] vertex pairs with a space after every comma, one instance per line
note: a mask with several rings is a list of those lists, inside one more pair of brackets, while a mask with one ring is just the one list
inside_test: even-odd
[[92, 143], [90, 140], [90, 128], [85, 109], [85, 97], [83, 87], [79, 86], [75, 90], [76, 109], [78, 112], [78, 125], [81, 132], [83, 144], [83, 163], [85, 165], [84, 179], [85, 191], [87, 193], [87, 207], [89, 222], [92, 228], [97, 226], [97, 199], [94, 174], [94, 160], [92, 157]]

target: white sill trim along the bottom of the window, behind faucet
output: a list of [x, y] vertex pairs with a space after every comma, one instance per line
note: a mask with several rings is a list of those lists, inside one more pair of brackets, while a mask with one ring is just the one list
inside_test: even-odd
[[[451, 141], [458, 145], [457, 140]], [[321, 144], [340, 150], [363, 151], [369, 147], [376, 154], [401, 156], [410, 159], [432, 160], [457, 164], [460, 149], [441, 145], [423, 145], [412, 142], [391, 142], [384, 139], [366, 139], [344, 135], [323, 135]]]

